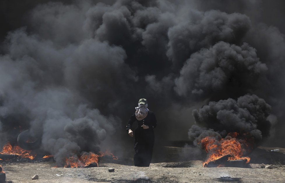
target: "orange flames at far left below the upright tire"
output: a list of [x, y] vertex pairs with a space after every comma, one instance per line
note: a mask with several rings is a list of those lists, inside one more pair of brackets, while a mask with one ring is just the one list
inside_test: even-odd
[[15, 145], [12, 147], [12, 145], [7, 142], [6, 145], [4, 145], [2, 152], [0, 154], [11, 154], [11, 155], [18, 155], [23, 158], [29, 158], [33, 160], [36, 155], [31, 155], [31, 151], [29, 150], [24, 150], [20, 148], [19, 146]]

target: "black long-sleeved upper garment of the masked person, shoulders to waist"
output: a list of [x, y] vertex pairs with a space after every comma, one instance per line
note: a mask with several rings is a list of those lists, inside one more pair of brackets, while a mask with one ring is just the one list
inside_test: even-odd
[[[127, 126], [126, 126], [127, 131], [131, 129], [133, 122], [135, 122], [136, 120], [137, 120], [136, 113], [133, 113], [133, 115], [131, 116], [131, 118], [129, 119], [127, 123]], [[149, 126], [149, 129], [153, 129], [156, 127], [156, 117], [152, 111], [148, 111], [147, 117], [145, 117], [143, 120], [138, 121], [138, 128], [142, 128], [141, 126], [143, 124]]]

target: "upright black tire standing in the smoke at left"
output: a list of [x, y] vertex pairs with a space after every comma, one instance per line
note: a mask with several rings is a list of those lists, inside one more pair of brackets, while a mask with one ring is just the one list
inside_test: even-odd
[[29, 130], [21, 132], [18, 136], [18, 145], [25, 150], [38, 149], [41, 146], [41, 138], [30, 136]]

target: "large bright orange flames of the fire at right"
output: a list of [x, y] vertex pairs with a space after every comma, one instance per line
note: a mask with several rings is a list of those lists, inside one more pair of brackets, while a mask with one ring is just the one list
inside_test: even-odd
[[229, 133], [226, 138], [222, 138], [221, 140], [216, 140], [214, 137], [205, 137], [198, 144], [202, 144], [205, 148], [206, 152], [209, 152], [208, 159], [203, 163], [205, 167], [209, 162], [215, 161], [224, 157], [226, 155], [230, 155], [228, 157], [229, 160], [246, 160], [248, 163], [249, 157], [242, 157], [245, 149], [238, 141], [237, 137], [238, 133]]

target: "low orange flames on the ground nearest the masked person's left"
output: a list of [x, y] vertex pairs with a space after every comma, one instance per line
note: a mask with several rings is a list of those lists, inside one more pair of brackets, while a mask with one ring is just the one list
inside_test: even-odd
[[106, 151], [105, 153], [99, 152], [99, 154], [95, 154], [93, 152], [84, 152], [80, 157], [72, 156], [69, 158], [66, 158], [65, 162], [66, 165], [65, 168], [71, 167], [71, 168], [78, 168], [78, 167], [85, 167], [92, 163], [96, 163], [98, 165], [98, 159], [99, 157], [103, 157], [105, 155], [112, 156], [113, 159], [118, 159], [118, 157], [115, 157], [112, 153], [109, 153]]

